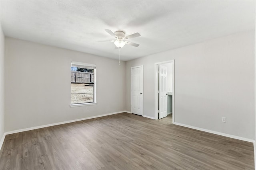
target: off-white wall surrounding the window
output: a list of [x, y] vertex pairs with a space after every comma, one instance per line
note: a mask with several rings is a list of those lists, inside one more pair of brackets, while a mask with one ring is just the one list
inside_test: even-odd
[[[5, 131], [125, 110], [118, 60], [6, 37]], [[96, 64], [97, 105], [70, 107], [70, 63]]]

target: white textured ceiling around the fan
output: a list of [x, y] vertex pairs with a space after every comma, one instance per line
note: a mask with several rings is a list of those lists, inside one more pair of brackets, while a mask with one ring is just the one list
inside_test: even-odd
[[118, 59], [104, 31], [122, 30], [139, 47], [125, 45], [121, 59], [167, 51], [255, 27], [255, 1], [1, 0], [8, 37]]

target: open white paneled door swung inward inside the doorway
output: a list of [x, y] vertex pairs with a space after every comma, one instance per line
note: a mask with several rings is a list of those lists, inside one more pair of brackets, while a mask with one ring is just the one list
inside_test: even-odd
[[167, 116], [167, 67], [159, 65], [159, 119]]

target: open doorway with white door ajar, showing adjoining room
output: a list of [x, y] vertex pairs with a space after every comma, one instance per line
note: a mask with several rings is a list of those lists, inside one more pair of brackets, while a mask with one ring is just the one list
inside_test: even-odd
[[174, 123], [174, 60], [155, 63], [155, 119]]

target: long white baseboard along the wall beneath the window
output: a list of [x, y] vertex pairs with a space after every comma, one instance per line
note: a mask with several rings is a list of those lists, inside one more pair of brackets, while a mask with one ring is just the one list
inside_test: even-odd
[[92, 117], [85, 117], [85, 118], [82, 118], [82, 119], [75, 119], [75, 120], [70, 120], [70, 121], [62, 121], [62, 122], [58, 122], [58, 123], [51, 123], [51, 124], [48, 124], [48, 125], [29, 127], [29, 128], [25, 128], [25, 129], [18, 129], [18, 130], [15, 130], [15, 131], [6, 132], [5, 135], [9, 135], [9, 134], [12, 134], [12, 133], [24, 132], [24, 131], [30, 131], [30, 130], [34, 130], [34, 129], [40, 129], [40, 128], [49, 127], [49, 126], [62, 125], [62, 124], [65, 124], [65, 123], [72, 123], [72, 122], [75, 122], [75, 121], [82, 121], [82, 120], [93, 119], [93, 118], [97, 118], [97, 117], [114, 115], [114, 114], [124, 113], [124, 112], [126, 112], [126, 111], [118, 111], [118, 112], [107, 113], [107, 114], [103, 114], [103, 115], [97, 115], [97, 116], [92, 116]]

